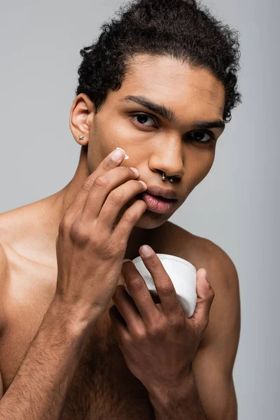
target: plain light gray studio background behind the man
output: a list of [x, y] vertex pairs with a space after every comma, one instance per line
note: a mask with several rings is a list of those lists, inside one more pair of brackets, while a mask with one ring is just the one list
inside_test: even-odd
[[[279, 5], [205, 0], [240, 31], [243, 104], [211, 172], [170, 219], [230, 255], [241, 293], [239, 419], [279, 419]], [[69, 130], [79, 50], [123, 2], [1, 1], [0, 211], [62, 189], [78, 165]], [[277, 226], [278, 225], [278, 226]]]

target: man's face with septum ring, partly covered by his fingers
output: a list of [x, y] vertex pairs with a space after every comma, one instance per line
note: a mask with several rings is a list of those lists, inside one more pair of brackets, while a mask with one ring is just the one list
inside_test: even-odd
[[[132, 96], [134, 99], [127, 98]], [[167, 107], [174, 120], [137, 103], [139, 97]], [[130, 157], [122, 165], [136, 167], [139, 180], [148, 187], [174, 190], [178, 201], [171, 210], [164, 214], [146, 210], [136, 225], [157, 228], [174, 214], [211, 169], [216, 140], [223, 127], [202, 129], [197, 123], [222, 123], [224, 106], [223, 83], [210, 71], [190, 67], [171, 57], [134, 56], [122, 87], [110, 91], [102, 110], [96, 115], [92, 113], [87, 151], [89, 172], [114, 148], [120, 147]], [[166, 174], [165, 181], [162, 172]], [[180, 179], [170, 183], [167, 176]]]

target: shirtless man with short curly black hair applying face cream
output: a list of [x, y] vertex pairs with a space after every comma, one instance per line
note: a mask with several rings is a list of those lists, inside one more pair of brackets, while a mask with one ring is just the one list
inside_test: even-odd
[[[240, 102], [237, 47], [195, 1], [141, 0], [82, 50], [76, 174], [0, 218], [0, 420], [237, 419], [235, 265], [168, 221]], [[153, 197], [164, 193], [174, 200]], [[139, 253], [158, 302], [123, 263]], [[155, 253], [196, 267], [192, 318]]]

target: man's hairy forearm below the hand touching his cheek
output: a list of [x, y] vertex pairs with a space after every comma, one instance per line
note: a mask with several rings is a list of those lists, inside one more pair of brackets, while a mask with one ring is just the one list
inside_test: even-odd
[[[8, 279], [8, 263], [0, 244], [0, 290]], [[0, 295], [0, 326], [3, 324]], [[54, 302], [54, 301], [52, 301]], [[0, 420], [58, 420], [80, 360], [84, 330], [70, 314], [50, 304], [15, 378], [0, 400]]]

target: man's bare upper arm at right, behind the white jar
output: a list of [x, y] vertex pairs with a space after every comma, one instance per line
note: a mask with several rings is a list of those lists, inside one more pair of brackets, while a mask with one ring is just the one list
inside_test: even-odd
[[207, 269], [215, 298], [193, 360], [193, 373], [207, 420], [237, 420], [232, 370], [241, 323], [239, 279], [228, 254], [213, 242], [208, 244], [209, 262], [202, 267]]

